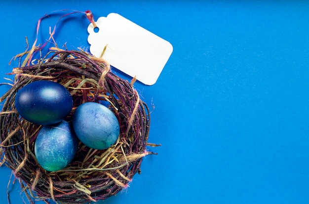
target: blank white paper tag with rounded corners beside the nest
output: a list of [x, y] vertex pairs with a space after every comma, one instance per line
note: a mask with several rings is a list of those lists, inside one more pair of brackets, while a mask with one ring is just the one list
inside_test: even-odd
[[153, 85], [173, 52], [172, 45], [116, 13], [88, 26], [90, 53], [146, 85]]

